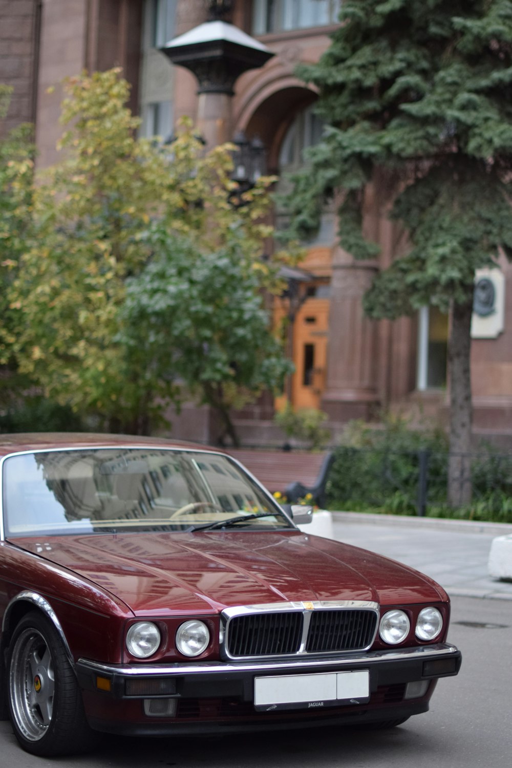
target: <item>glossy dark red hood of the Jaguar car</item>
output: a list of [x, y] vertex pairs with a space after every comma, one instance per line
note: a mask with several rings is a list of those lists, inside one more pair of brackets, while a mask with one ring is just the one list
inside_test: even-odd
[[412, 604], [446, 599], [427, 576], [300, 531], [52, 537], [18, 546], [74, 571], [147, 617], [280, 601]]

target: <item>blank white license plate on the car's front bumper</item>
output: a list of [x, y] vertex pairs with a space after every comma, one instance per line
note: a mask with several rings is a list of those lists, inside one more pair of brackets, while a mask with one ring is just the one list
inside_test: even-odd
[[315, 709], [365, 703], [370, 697], [368, 670], [256, 677], [254, 706], [260, 710]]

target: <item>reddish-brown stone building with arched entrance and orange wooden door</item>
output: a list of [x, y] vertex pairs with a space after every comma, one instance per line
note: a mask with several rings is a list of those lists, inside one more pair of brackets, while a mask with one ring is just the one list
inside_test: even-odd
[[[253, 35], [273, 57], [242, 74], [233, 98], [223, 102], [231, 134], [258, 135], [269, 171], [283, 173], [302, 163], [302, 149], [318, 140], [322, 125], [312, 111], [315, 93], [294, 74], [299, 61], [316, 61], [329, 45], [340, 0], [235, 0], [233, 25]], [[60, 93], [50, 85], [81, 69], [121, 65], [132, 84], [131, 106], [145, 134], [167, 136], [177, 118], [201, 111], [197, 79], [160, 51], [206, 21], [205, 0], [0, 0], [0, 82], [15, 93], [5, 127], [36, 126], [38, 162], [55, 160]], [[229, 112], [230, 114], [227, 114]], [[285, 184], [284, 181], [280, 184]], [[382, 245], [378, 262], [354, 262], [336, 244], [335, 217], [325, 211], [315, 242], [302, 264], [306, 280], [293, 283], [295, 306], [278, 301], [276, 313], [293, 317], [290, 350], [296, 374], [289, 397], [297, 407], [320, 407], [333, 427], [368, 418], [382, 406], [424, 412], [446, 409], [449, 317], [424, 307], [418, 316], [391, 323], [370, 322], [362, 295], [376, 270], [404, 247], [401, 233], [385, 216], [385, 189], [373, 190], [365, 226]], [[384, 193], [384, 194], [383, 194]], [[284, 213], [276, 210], [276, 223]], [[491, 310], [475, 314], [472, 343], [474, 428], [512, 442], [511, 268], [483, 275], [491, 283]], [[507, 325], [508, 322], [508, 325]], [[269, 442], [273, 403], [263, 399], [239, 415], [246, 442]], [[176, 429], [211, 438], [205, 412], [185, 409]]]

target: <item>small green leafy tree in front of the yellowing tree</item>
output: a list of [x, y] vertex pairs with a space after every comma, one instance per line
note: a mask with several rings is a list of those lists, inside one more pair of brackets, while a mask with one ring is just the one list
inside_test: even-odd
[[141, 369], [212, 406], [234, 445], [230, 409], [282, 389], [291, 368], [269, 331], [259, 276], [241, 258], [240, 235], [206, 252], [162, 232], [150, 263], [127, 281], [121, 310], [123, 344]]

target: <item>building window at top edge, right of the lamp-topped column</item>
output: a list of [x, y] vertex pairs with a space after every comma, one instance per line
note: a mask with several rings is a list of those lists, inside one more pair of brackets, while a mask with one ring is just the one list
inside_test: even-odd
[[342, 0], [254, 0], [253, 34], [334, 24]]

